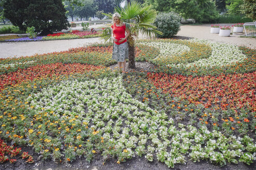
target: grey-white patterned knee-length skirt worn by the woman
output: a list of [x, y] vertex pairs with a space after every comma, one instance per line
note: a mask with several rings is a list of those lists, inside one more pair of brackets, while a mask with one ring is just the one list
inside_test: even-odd
[[113, 54], [112, 59], [116, 60], [117, 62], [124, 62], [125, 59], [129, 57], [129, 49], [127, 42], [124, 42], [120, 45], [114, 43], [113, 45]]

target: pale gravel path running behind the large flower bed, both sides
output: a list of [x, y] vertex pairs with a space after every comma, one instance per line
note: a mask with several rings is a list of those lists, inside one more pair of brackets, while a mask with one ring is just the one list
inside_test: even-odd
[[[177, 36], [194, 37], [200, 39], [208, 39], [210, 41], [217, 41], [221, 43], [229, 43], [237, 46], [247, 46], [256, 49], [256, 38], [243, 38], [238, 35], [231, 35], [230, 37], [221, 37], [219, 34], [210, 34], [211, 24], [202, 25], [182, 25], [181, 31]], [[224, 25], [224, 24], [223, 24]], [[232, 24], [229, 24], [232, 25]], [[98, 25], [103, 26], [103, 25]], [[82, 29], [76, 27], [75, 29]], [[139, 36], [139, 38], [145, 38]], [[100, 43], [103, 40], [100, 38], [85, 38], [85, 39], [68, 39], [68, 40], [51, 40], [51, 41], [37, 41], [37, 42], [9, 42], [0, 43], [0, 58], [13, 58], [20, 56], [30, 56], [34, 54], [43, 54], [48, 52], [65, 51], [70, 48], [83, 47], [91, 43]]]

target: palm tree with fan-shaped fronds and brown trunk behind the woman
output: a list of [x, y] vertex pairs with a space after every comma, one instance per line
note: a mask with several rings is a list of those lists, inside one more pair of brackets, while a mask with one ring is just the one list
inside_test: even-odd
[[[156, 19], [157, 12], [154, 9], [150, 9], [150, 6], [143, 7], [142, 4], [132, 1], [125, 8], [116, 7], [114, 12], [118, 12], [121, 15], [121, 20], [125, 22], [126, 29], [130, 29], [130, 35], [127, 37], [129, 47], [129, 67], [135, 68], [135, 39], [139, 33], [146, 35], [147, 37], [155, 37], [155, 34], [162, 34], [162, 32], [156, 30], [157, 27], [152, 25]], [[112, 15], [104, 13], [106, 16], [112, 18]], [[110, 27], [108, 27], [103, 34], [105, 41], [112, 40]]]

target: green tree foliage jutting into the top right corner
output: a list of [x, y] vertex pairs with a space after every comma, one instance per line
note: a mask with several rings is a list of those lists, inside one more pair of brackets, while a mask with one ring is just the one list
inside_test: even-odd
[[248, 18], [253, 21], [256, 20], [256, 1], [255, 0], [244, 0], [241, 5], [241, 12], [244, 13]]

